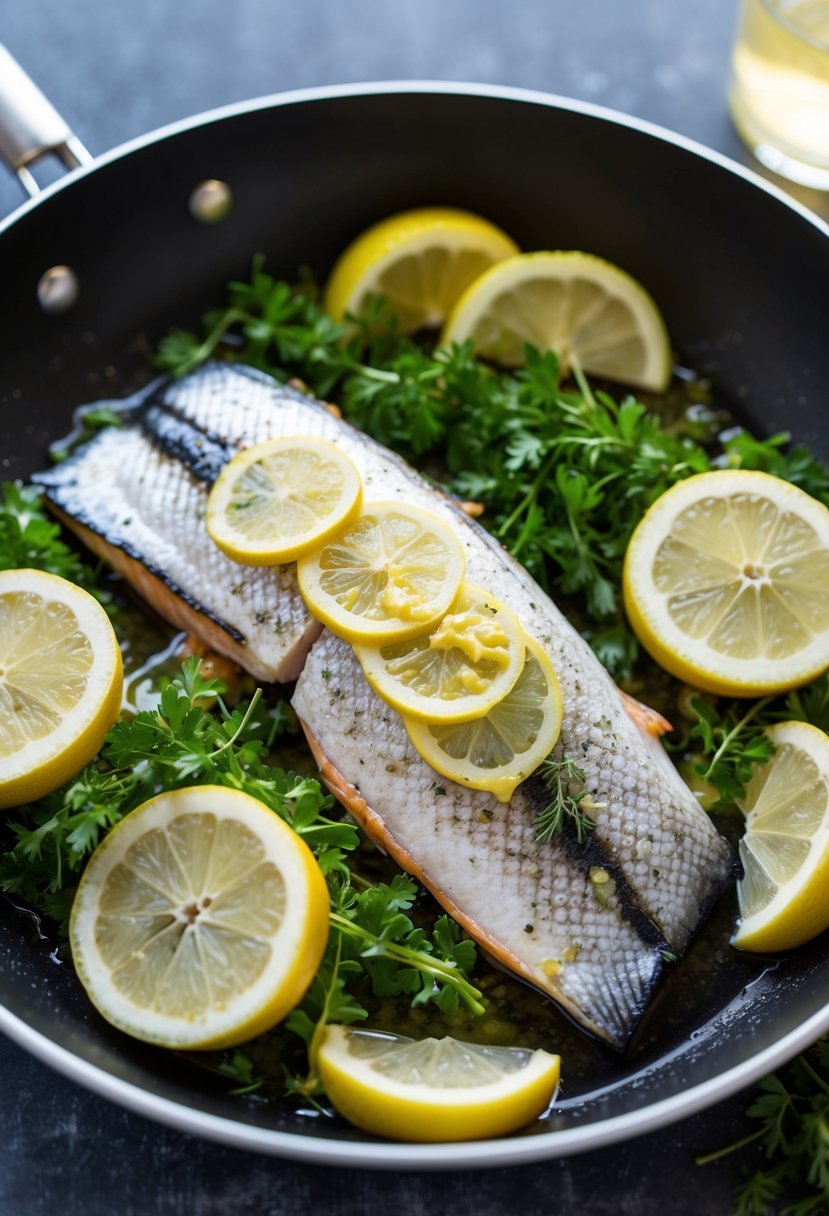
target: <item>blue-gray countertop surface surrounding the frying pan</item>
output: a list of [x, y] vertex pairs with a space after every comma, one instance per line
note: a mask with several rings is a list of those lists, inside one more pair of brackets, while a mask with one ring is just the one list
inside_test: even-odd
[[[0, 36], [95, 152], [247, 97], [339, 81], [542, 89], [672, 128], [741, 162], [724, 88], [731, 0], [29, 0]], [[494, 150], [497, 156], [498, 150]], [[47, 178], [47, 175], [46, 175]], [[793, 190], [794, 192], [794, 190]], [[829, 196], [797, 197], [829, 218]], [[21, 199], [0, 175], [0, 214]], [[480, 1173], [371, 1173], [198, 1141], [111, 1105], [0, 1041], [0, 1216], [727, 1212], [739, 1162], [695, 1153], [745, 1133], [745, 1096], [644, 1139]]]

